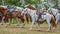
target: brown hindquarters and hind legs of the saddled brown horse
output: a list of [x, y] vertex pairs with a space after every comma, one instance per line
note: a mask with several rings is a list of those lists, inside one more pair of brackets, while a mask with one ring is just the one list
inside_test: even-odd
[[[13, 13], [14, 13], [14, 12], [13, 12]], [[24, 25], [25, 25], [25, 24], [24, 24], [25, 19], [24, 19], [24, 16], [21, 15], [21, 13], [22, 13], [21, 10], [17, 10], [17, 11], [15, 11], [14, 14], [16, 15], [15, 18], [17, 18], [18, 26], [19, 26], [19, 24], [20, 24], [20, 22], [21, 22], [21, 23], [23, 23], [22, 27], [24, 27]], [[14, 14], [13, 14], [13, 15], [14, 15]], [[13, 15], [12, 15], [12, 17], [14, 17]]]

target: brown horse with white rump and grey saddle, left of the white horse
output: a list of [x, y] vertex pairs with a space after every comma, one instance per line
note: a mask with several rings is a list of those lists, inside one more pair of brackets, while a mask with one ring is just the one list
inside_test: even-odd
[[[20, 8], [20, 7], [17, 7], [17, 6], [13, 6], [13, 8], [11, 7], [11, 6], [8, 6], [9, 8], [9, 11], [7, 12], [7, 15], [6, 15], [6, 17], [7, 17], [7, 19], [9, 19], [9, 18], [11, 18], [12, 19], [12, 23], [13, 23], [13, 19], [14, 18], [16, 18], [17, 19], [17, 21], [18, 21], [18, 24], [17, 25], [19, 25], [20, 24], [20, 22], [22, 22], [23, 23], [23, 25], [25, 25], [24, 24], [24, 18], [23, 18], [23, 15], [21, 15], [21, 13], [22, 13], [22, 8]], [[10, 20], [9, 20], [9, 25], [10, 25]], [[8, 26], [8, 25], [7, 25]], [[7, 27], [6, 26], [6, 27]], [[23, 26], [22, 26], [23, 27]]]

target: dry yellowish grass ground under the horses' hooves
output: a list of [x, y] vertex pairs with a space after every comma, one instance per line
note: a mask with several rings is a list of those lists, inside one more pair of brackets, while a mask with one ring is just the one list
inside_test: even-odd
[[36, 25], [33, 26], [33, 29], [29, 30], [29, 24], [25, 28], [20, 28], [14, 24], [5, 28], [4, 25], [0, 25], [0, 34], [60, 34], [60, 27], [57, 27], [56, 30], [51, 30], [47, 32], [47, 24], [41, 24], [40, 31], [37, 30]]

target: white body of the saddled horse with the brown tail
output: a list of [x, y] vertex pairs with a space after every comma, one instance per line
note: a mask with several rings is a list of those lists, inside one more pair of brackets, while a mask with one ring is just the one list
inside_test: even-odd
[[[36, 23], [36, 26], [37, 26], [37, 28], [39, 29], [40, 28], [40, 26], [39, 26], [39, 24], [37, 23], [37, 20], [38, 20], [38, 17], [39, 17], [39, 15], [37, 15], [36, 14], [36, 10], [31, 10], [31, 9], [29, 9], [29, 8], [26, 8], [24, 11], [23, 11], [23, 13], [29, 13], [30, 14], [30, 16], [31, 16], [31, 19], [32, 19], [32, 24], [31, 24], [31, 26], [30, 26], [30, 29], [29, 30], [31, 30], [32, 29], [32, 26], [34, 25], [34, 23]], [[22, 14], [23, 14], [22, 13]], [[46, 12], [45, 12], [46, 13]], [[48, 18], [49, 17], [49, 18]], [[47, 21], [47, 23], [48, 23], [48, 30], [47, 31], [49, 31], [50, 29], [51, 29], [51, 23], [50, 23], [50, 21], [51, 21], [51, 18], [53, 17], [53, 15], [51, 15], [51, 14], [49, 14], [49, 13], [46, 13], [46, 15], [42, 15], [42, 18], [43, 19], [46, 19], [46, 21]]]

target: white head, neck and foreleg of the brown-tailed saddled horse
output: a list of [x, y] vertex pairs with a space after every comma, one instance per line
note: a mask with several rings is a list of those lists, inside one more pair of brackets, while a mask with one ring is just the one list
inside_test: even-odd
[[[24, 11], [22, 12], [22, 14], [26, 14], [29, 13], [32, 19], [32, 24], [30, 26], [30, 30], [32, 29], [33, 24], [37, 21], [38, 19], [38, 15], [36, 14], [36, 10], [31, 10], [29, 8], [25, 8]], [[38, 23], [37, 23], [37, 27], [38, 27]], [[39, 27], [38, 27], [39, 28]]]

